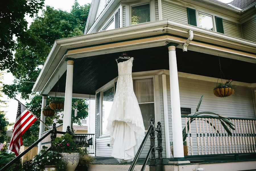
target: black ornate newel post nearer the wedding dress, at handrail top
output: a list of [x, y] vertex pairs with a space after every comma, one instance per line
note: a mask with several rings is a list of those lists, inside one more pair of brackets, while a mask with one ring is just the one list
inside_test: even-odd
[[150, 147], [152, 147], [151, 157], [150, 157], [150, 164], [149, 164], [149, 171], [156, 170], [156, 153], [155, 153], [155, 127], [154, 127], [154, 119], [150, 118], [149, 126], [153, 125], [152, 130], [150, 131]]

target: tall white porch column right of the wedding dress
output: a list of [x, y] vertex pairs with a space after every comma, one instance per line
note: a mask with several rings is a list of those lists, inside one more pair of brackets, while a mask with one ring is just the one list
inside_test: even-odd
[[176, 60], [176, 46], [175, 44], [170, 44], [168, 46], [171, 107], [172, 107], [173, 153], [174, 153], [174, 158], [184, 158], [180, 100], [179, 100], [179, 82], [178, 82], [178, 70], [177, 70], [177, 60]]

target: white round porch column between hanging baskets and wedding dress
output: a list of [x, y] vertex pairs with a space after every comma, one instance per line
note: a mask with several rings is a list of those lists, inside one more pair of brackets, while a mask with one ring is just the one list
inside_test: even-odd
[[65, 101], [64, 101], [64, 115], [63, 115], [63, 128], [62, 131], [66, 132], [67, 126], [71, 128], [71, 110], [72, 110], [72, 92], [73, 92], [73, 66], [74, 60], [72, 58], [67, 59], [67, 78], [65, 89]]

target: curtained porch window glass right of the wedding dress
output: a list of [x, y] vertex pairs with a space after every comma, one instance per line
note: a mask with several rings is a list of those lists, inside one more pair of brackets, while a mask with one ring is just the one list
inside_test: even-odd
[[153, 78], [136, 79], [133, 81], [134, 93], [138, 99], [144, 127], [149, 127], [149, 119], [155, 119], [154, 80]]

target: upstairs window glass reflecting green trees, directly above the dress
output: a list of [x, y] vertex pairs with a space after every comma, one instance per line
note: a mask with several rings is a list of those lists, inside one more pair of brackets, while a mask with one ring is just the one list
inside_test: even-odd
[[150, 5], [137, 5], [131, 7], [131, 25], [150, 21]]

